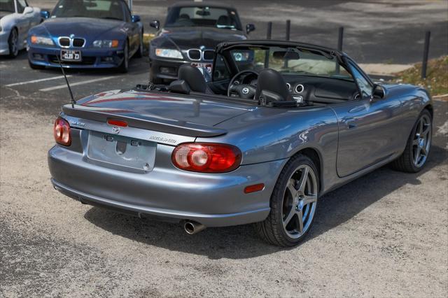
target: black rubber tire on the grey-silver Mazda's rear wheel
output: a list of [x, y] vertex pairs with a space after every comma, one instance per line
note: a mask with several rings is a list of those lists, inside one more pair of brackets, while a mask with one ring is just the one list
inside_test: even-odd
[[[293, 180], [294, 175], [300, 173], [300, 181], [302, 181], [302, 175], [305, 173], [304, 171], [299, 172], [301, 167], [304, 167], [308, 169], [309, 174], [311, 173], [314, 175], [314, 183], [311, 181], [311, 176], [307, 180], [311, 181], [314, 186], [312, 187], [312, 193], [315, 195], [315, 201], [313, 203], [309, 203], [310, 205], [305, 205], [300, 208], [300, 214], [304, 216], [304, 218], [307, 220], [306, 222], [302, 222], [302, 232], [297, 232], [297, 237], [291, 236], [291, 234], [288, 233], [287, 227], [288, 222], [289, 224], [293, 223], [292, 220], [288, 221], [288, 215], [284, 211], [288, 209], [288, 207], [285, 205], [286, 199], [288, 199], [289, 194], [287, 192], [288, 184], [290, 183], [290, 180]], [[311, 170], [312, 172], [311, 172]], [[276, 185], [274, 187], [274, 191], [272, 192], [271, 201], [270, 201], [270, 207], [271, 211], [269, 212], [269, 215], [263, 222], [257, 222], [255, 224], [255, 230], [260, 235], [261, 239], [264, 241], [267, 241], [267, 243], [271, 243], [275, 246], [283, 246], [283, 247], [290, 247], [290, 246], [296, 246], [298, 243], [300, 243], [308, 234], [309, 230], [311, 229], [311, 225], [314, 222], [314, 217], [316, 215], [316, 206], [317, 206], [317, 197], [318, 197], [318, 187], [319, 187], [319, 178], [318, 178], [318, 170], [316, 169], [316, 166], [314, 165], [314, 162], [309, 159], [309, 157], [304, 155], [295, 155], [293, 158], [291, 158], [288, 163], [284, 166], [283, 170], [281, 171], [279, 175], [279, 179], [276, 182]], [[300, 184], [300, 181], [299, 182]], [[307, 183], [307, 181], [305, 181]], [[308, 185], [308, 184], [307, 184]], [[298, 186], [298, 185], [297, 185]], [[310, 188], [308, 189], [308, 191]], [[306, 192], [304, 188], [304, 193]], [[309, 192], [307, 192], [309, 194]], [[299, 196], [300, 197], [300, 196]], [[299, 201], [300, 202], [300, 201]], [[293, 212], [293, 204], [291, 204], [289, 211], [286, 211], [286, 213]], [[308, 206], [309, 213], [307, 215], [303, 215], [303, 210]], [[297, 206], [298, 207], [298, 206]], [[298, 210], [295, 208], [294, 210]], [[295, 211], [293, 212], [295, 213]], [[298, 220], [298, 215], [295, 220]], [[309, 216], [309, 218], [307, 218]], [[283, 220], [287, 223], [286, 227], [283, 227]], [[305, 224], [306, 223], [306, 229]]]

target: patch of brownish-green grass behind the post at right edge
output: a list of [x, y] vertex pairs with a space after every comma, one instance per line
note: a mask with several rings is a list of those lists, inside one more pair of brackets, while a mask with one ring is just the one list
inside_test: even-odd
[[432, 96], [448, 94], [448, 56], [428, 61], [426, 79], [421, 79], [421, 63], [411, 69], [395, 73], [395, 83], [409, 83], [425, 87]]

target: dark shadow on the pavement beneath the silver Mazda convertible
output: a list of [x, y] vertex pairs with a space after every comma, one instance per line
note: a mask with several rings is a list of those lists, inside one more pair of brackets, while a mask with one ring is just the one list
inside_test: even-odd
[[[321, 197], [314, 226], [302, 245], [350, 220], [403, 185], [419, 185], [419, 176], [447, 162], [447, 153], [444, 148], [433, 146], [428, 164], [420, 173], [401, 173], [384, 166]], [[252, 225], [210, 228], [188, 235], [180, 225], [134, 218], [97, 207], [90, 208], [84, 217], [97, 227], [132, 241], [207, 255], [210, 259], [246, 259], [284, 250], [258, 239]]]

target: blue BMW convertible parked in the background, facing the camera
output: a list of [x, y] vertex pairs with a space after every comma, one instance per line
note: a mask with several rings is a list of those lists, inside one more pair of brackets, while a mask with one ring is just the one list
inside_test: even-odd
[[59, 0], [52, 13], [28, 34], [32, 69], [118, 68], [142, 55], [143, 26], [124, 0]]

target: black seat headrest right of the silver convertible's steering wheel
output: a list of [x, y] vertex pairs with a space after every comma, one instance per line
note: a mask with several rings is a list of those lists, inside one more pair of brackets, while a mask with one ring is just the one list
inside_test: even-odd
[[257, 90], [255, 91], [255, 99], [259, 99], [260, 93], [265, 90], [274, 92], [279, 95], [281, 101], [289, 101], [290, 93], [286, 87], [286, 81], [278, 71], [274, 69], [263, 69], [258, 75]]

